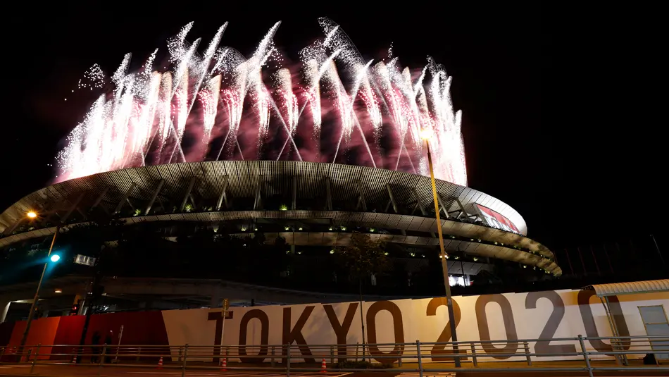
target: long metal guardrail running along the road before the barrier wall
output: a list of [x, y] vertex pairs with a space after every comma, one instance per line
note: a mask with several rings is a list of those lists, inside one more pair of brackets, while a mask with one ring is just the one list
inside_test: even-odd
[[[588, 349], [585, 342], [611, 342], [610, 351]], [[530, 352], [530, 343], [572, 342], [559, 349], [573, 347], [565, 352]], [[573, 344], [575, 342], [575, 345]], [[577, 345], [577, 346], [576, 346]], [[393, 372], [456, 372], [463, 369], [476, 371], [582, 371], [592, 377], [593, 371], [667, 371], [669, 366], [644, 365], [639, 358], [646, 354], [669, 354], [669, 337], [589, 337], [487, 340], [461, 342], [405, 342], [356, 345], [32, 345], [23, 350], [0, 347], [0, 364], [30, 363], [30, 373], [46, 365], [87, 364], [96, 366], [100, 375], [103, 368], [118, 366], [160, 367], [181, 369], [262, 370], [283, 372], [310, 371], [368, 371], [361, 366], [374, 366], [377, 371]], [[542, 357], [577, 358], [574, 362], [556, 366], [542, 365]], [[615, 361], [611, 359], [613, 357]], [[449, 362], [461, 361], [460, 368]], [[521, 359], [527, 366], [486, 367], [491, 359]], [[602, 361], [602, 359], [608, 359]], [[658, 357], [656, 357], [658, 359]], [[234, 360], [234, 362], [229, 362]], [[330, 365], [327, 365], [329, 361]], [[365, 364], [350, 361], [368, 361]], [[483, 362], [481, 362], [483, 361]], [[516, 360], [517, 361], [517, 360]], [[538, 364], [537, 364], [538, 362]], [[90, 364], [89, 364], [90, 363]], [[159, 366], [156, 366], [160, 364]], [[224, 366], [222, 366], [224, 365]], [[493, 364], [489, 364], [493, 365]], [[323, 368], [325, 366], [325, 368]], [[351, 367], [352, 366], [352, 367]], [[357, 366], [357, 367], [356, 367]]]

